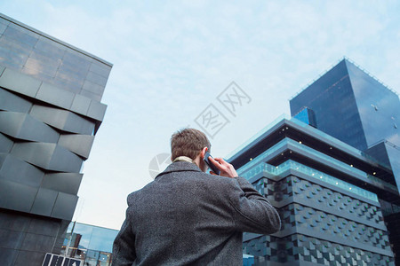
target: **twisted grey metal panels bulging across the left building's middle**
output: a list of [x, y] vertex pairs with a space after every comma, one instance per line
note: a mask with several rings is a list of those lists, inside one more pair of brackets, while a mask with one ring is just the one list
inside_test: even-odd
[[[95, 117], [100, 118], [104, 110], [93, 113], [96, 104], [84, 96], [76, 101], [67, 98], [67, 105], [64, 99], [45, 96], [49, 87], [43, 82], [38, 87], [43, 90], [29, 92], [32, 84], [22, 81], [32, 78], [26, 75], [16, 82], [20, 88], [14, 82], [8, 90], [4, 85], [10, 84], [10, 76], [22, 74], [8, 68], [4, 72], [5, 82], [0, 76], [0, 207], [70, 220], [83, 176], [80, 169], [94, 140]], [[82, 114], [91, 112], [92, 117]]]

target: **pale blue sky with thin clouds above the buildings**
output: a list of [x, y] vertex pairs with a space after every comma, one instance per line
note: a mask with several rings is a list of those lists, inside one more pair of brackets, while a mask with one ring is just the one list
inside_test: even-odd
[[399, 1], [2, 0], [0, 12], [114, 65], [79, 223], [119, 229], [172, 133], [210, 110], [224, 118], [212, 155], [227, 158], [343, 57], [400, 92]]

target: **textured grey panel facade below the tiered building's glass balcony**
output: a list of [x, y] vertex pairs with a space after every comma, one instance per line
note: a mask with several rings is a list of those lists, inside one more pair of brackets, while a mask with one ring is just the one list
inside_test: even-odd
[[251, 180], [282, 221], [269, 236], [244, 233], [256, 265], [395, 265], [378, 202], [294, 169]]

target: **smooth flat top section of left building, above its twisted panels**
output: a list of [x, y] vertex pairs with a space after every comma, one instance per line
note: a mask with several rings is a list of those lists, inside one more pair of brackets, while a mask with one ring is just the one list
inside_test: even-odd
[[[35, 84], [28, 81], [29, 77], [34, 77], [48, 86], [100, 102], [111, 69], [109, 63], [36, 29], [26, 25], [21, 27], [18, 21], [3, 14], [0, 17], [0, 43], [3, 48], [0, 50], [1, 65], [27, 74], [12, 82], [20, 90], [26, 83]], [[33, 93], [30, 96], [33, 97]], [[45, 96], [51, 96], [51, 93]], [[66, 98], [64, 94], [61, 96]]]

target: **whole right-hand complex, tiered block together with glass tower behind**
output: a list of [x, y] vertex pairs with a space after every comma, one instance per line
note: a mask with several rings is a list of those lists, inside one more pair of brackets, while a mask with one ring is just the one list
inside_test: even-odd
[[283, 222], [273, 235], [244, 233], [244, 254], [255, 265], [398, 263], [396, 93], [344, 59], [291, 110], [228, 159]]

